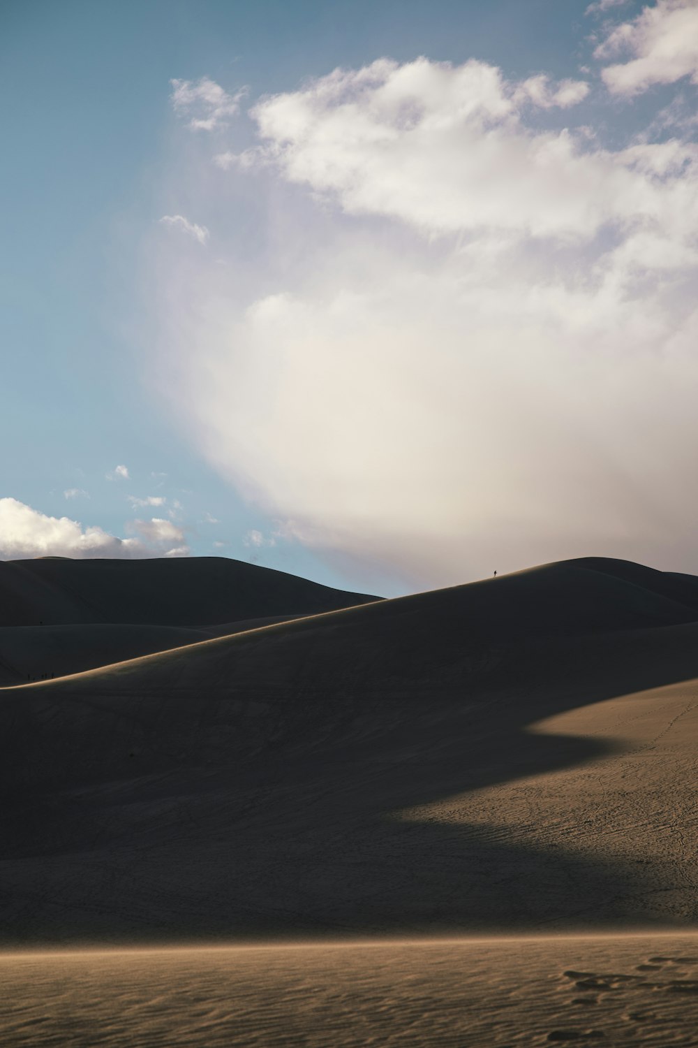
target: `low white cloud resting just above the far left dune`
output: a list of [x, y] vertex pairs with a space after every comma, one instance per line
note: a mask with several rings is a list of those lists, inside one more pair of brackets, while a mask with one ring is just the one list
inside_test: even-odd
[[170, 530], [163, 529], [161, 524], [168, 522], [134, 521], [129, 529], [136, 537], [118, 539], [100, 527], [84, 528], [68, 517], [48, 517], [17, 499], [4, 498], [0, 499], [0, 560], [167, 556], [174, 555], [173, 543], [180, 546], [177, 555], [186, 555], [182, 552], [183, 532], [172, 525]]

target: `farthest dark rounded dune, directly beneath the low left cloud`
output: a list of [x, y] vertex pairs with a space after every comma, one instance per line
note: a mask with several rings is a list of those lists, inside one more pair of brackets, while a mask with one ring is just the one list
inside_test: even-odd
[[224, 556], [0, 562], [0, 626], [128, 623], [199, 628], [331, 611], [375, 599]]

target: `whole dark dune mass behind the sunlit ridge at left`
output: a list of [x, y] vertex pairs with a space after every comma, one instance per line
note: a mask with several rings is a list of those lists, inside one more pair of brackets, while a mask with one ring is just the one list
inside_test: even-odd
[[0, 562], [0, 686], [373, 599], [226, 558]]

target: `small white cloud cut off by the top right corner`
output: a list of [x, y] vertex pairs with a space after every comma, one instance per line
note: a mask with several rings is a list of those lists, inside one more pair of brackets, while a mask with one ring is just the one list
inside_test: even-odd
[[615, 26], [594, 52], [601, 60], [621, 53], [631, 57], [602, 70], [614, 94], [639, 94], [653, 84], [674, 84], [684, 77], [698, 84], [698, 4], [657, 0], [644, 7], [632, 22]]

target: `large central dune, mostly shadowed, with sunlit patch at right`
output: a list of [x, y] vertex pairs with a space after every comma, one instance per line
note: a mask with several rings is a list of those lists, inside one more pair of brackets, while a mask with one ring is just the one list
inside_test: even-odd
[[695, 922], [697, 593], [564, 562], [6, 689], [2, 935]]

